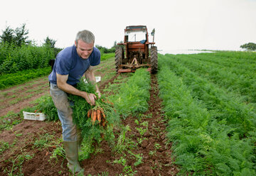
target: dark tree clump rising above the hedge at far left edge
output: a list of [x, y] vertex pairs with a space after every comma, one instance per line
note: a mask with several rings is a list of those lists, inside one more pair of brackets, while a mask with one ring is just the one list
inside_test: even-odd
[[28, 44], [31, 42], [28, 40], [28, 30], [26, 29], [25, 23], [16, 29], [6, 26], [5, 31], [2, 32], [3, 34], [0, 35], [0, 38], [3, 43], [14, 43], [16, 46], [20, 47], [23, 43]]

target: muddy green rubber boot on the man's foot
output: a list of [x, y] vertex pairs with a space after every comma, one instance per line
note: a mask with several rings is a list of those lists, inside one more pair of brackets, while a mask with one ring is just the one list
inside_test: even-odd
[[78, 141], [63, 141], [66, 158], [68, 160], [68, 168], [71, 172], [80, 172], [82, 167], [78, 162]]

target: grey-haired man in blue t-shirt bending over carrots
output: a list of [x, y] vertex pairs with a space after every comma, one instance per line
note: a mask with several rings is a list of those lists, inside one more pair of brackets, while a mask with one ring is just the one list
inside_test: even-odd
[[96, 92], [100, 97], [93, 66], [100, 64], [100, 50], [94, 47], [95, 36], [90, 31], [80, 31], [76, 35], [75, 45], [65, 48], [58, 53], [53, 71], [48, 79], [50, 82], [50, 95], [58, 109], [58, 117], [63, 128], [63, 145], [68, 168], [74, 173], [82, 170], [78, 163], [78, 146], [81, 139], [77, 126], [73, 123], [73, 110], [68, 101], [68, 94], [85, 98], [88, 104], [95, 105], [95, 94], [82, 92], [75, 85], [84, 75], [89, 81], [95, 83]]

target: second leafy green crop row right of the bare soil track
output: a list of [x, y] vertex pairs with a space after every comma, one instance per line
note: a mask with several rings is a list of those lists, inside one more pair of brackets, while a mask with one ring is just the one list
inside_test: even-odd
[[182, 77], [183, 83], [191, 89], [193, 98], [200, 100], [218, 121], [225, 119], [240, 136], [246, 136], [246, 133], [256, 126], [256, 114], [251, 111], [250, 106], [243, 103], [242, 97], [233, 92], [225, 92], [225, 89], [220, 89], [214, 83], [199, 77], [176, 60], [171, 60], [169, 67], [176, 75]]

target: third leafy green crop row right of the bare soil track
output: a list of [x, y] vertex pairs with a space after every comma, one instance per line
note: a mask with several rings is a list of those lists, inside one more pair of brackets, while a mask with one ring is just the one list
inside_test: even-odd
[[[212, 80], [220, 87], [224, 87], [229, 91], [238, 92], [238, 94], [245, 96], [247, 102], [256, 102], [256, 75], [254, 72], [242, 72], [242, 70], [235, 70], [212, 62], [203, 62], [196, 58], [201, 55], [179, 55], [172, 57], [176, 62], [186, 65], [191, 71], [196, 72], [208, 80]], [[256, 65], [255, 65], [256, 66]], [[250, 65], [250, 67], [254, 67]]]

